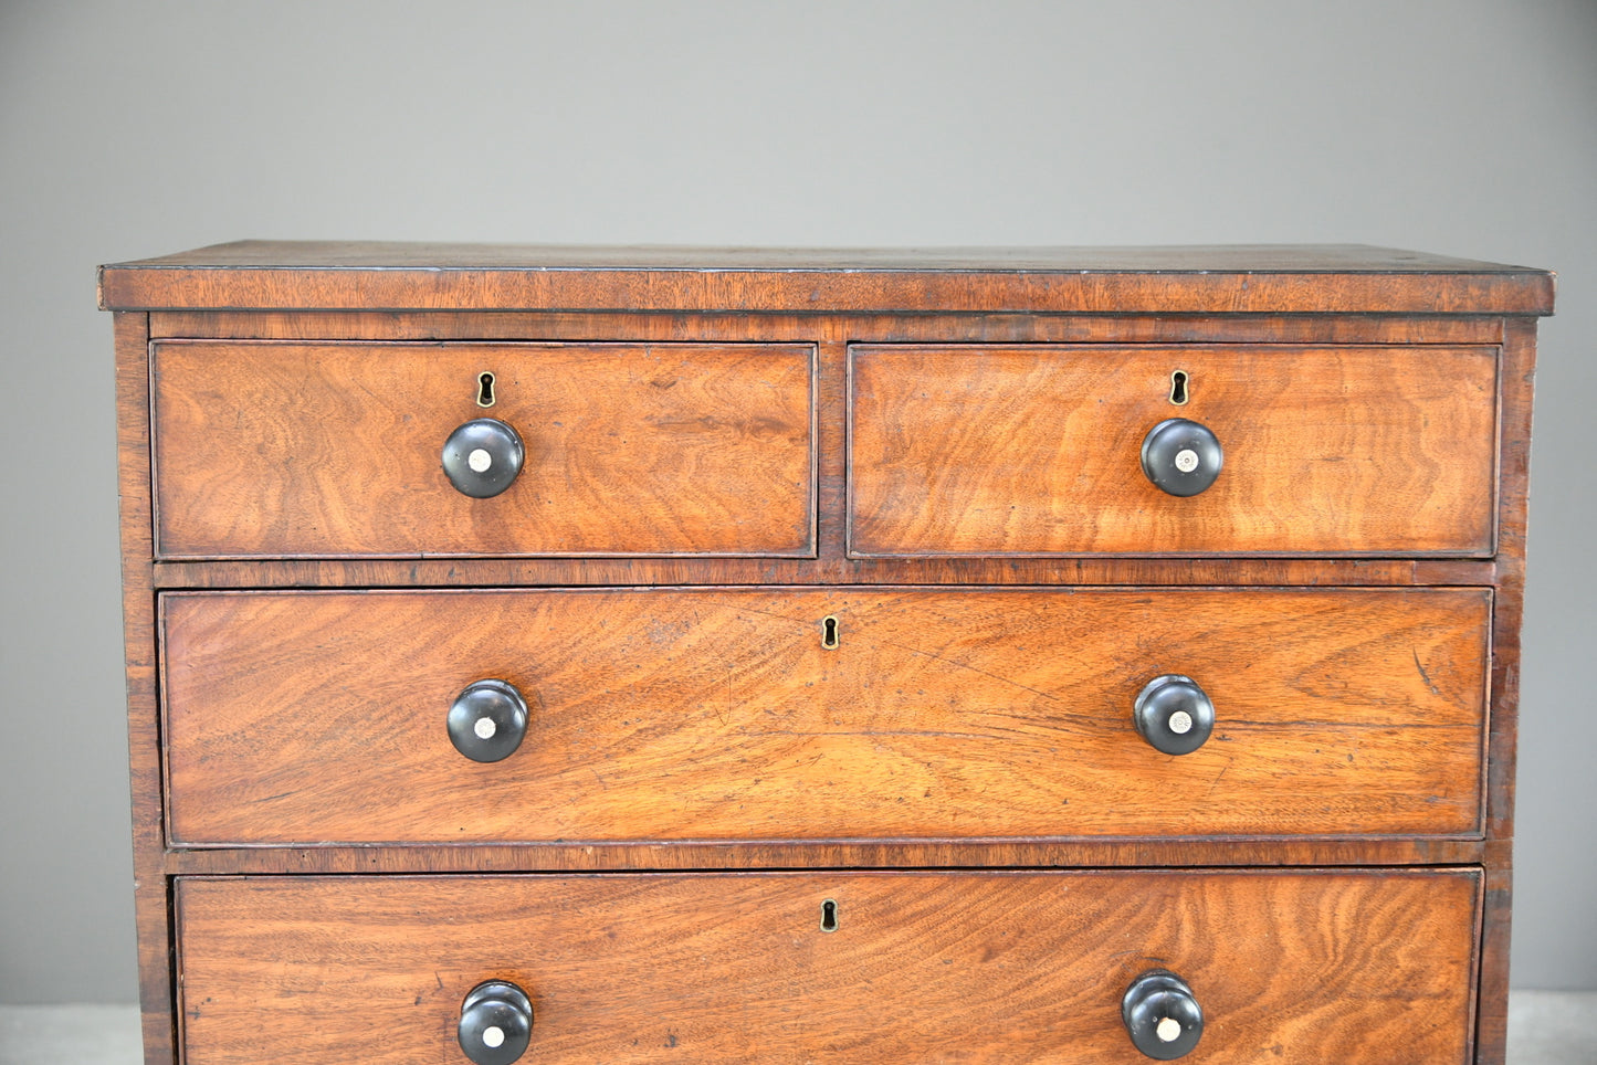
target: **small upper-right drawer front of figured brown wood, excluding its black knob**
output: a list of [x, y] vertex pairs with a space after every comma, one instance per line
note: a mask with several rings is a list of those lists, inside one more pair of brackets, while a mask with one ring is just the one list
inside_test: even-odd
[[[1493, 551], [1495, 346], [859, 345], [850, 364], [854, 556]], [[1198, 495], [1143, 473], [1166, 418], [1220, 444]]]

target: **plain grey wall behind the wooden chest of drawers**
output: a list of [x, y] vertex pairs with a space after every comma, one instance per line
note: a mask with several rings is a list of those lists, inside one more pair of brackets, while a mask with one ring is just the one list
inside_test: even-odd
[[0, 1003], [136, 996], [94, 267], [243, 236], [1557, 268], [1512, 979], [1597, 988], [1597, 3], [0, 0]]

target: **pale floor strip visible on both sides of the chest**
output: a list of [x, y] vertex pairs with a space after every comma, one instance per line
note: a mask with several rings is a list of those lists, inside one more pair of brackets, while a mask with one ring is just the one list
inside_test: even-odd
[[[1597, 992], [1514, 992], [1508, 1016], [1508, 1065], [1597, 1065]], [[0, 1006], [0, 1065], [53, 1062], [142, 1065], [139, 1011]]]

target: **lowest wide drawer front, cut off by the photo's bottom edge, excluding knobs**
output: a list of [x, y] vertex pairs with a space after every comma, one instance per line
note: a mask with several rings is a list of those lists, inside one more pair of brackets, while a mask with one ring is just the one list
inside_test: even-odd
[[[190, 877], [182, 1046], [466, 1062], [462, 1004], [503, 980], [529, 1063], [1139, 1062], [1123, 998], [1167, 969], [1191, 1060], [1436, 1065], [1469, 1052], [1479, 894], [1471, 869]], [[1180, 1003], [1150, 1001], [1158, 1039]], [[514, 1012], [473, 1012], [497, 1060]]]

